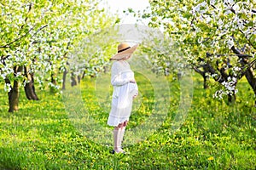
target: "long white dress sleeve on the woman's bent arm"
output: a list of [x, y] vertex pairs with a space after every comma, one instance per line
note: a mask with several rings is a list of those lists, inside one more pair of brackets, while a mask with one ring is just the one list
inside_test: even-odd
[[130, 82], [130, 79], [121, 77], [119, 62], [114, 62], [111, 68], [111, 84], [113, 86], [121, 86], [126, 84], [127, 82]]

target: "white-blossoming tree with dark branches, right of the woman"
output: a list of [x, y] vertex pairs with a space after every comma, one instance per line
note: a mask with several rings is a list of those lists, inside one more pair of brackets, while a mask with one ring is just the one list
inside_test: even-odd
[[[218, 82], [215, 97], [236, 99], [245, 76], [256, 95], [256, 3], [253, 0], [149, 0], [149, 26], [161, 27], [183, 51], [189, 66], [207, 82]], [[255, 102], [256, 105], [256, 102]]]

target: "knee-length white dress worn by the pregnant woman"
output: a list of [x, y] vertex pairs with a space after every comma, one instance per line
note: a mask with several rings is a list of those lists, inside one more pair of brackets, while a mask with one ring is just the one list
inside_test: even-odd
[[108, 125], [118, 126], [119, 123], [129, 121], [131, 116], [132, 97], [138, 93], [134, 72], [125, 60], [113, 62], [111, 68], [111, 84], [113, 85], [113, 98], [111, 111], [108, 116]]

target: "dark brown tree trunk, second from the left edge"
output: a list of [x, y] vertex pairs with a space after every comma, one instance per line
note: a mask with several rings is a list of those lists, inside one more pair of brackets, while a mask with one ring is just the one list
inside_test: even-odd
[[32, 73], [29, 73], [28, 66], [24, 66], [24, 73], [28, 81], [26, 82], [26, 85], [24, 87], [26, 98], [32, 99], [32, 100], [38, 100], [38, 95], [36, 94], [35, 86], [34, 86], [34, 75]]

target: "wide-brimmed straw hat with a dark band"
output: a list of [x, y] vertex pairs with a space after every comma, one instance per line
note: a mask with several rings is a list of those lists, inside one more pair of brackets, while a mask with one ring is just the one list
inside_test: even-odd
[[118, 54], [113, 55], [111, 59], [123, 59], [131, 55], [136, 50], [137, 47], [138, 44], [131, 47], [128, 43], [122, 42], [118, 46]]

